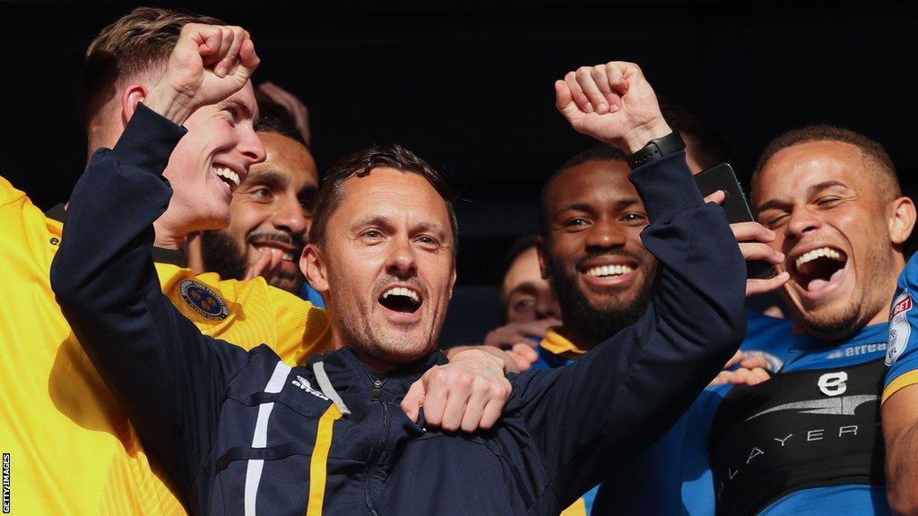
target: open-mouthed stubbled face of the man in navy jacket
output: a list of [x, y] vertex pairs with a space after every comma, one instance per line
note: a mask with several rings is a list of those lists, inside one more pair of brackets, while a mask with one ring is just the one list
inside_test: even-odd
[[328, 293], [336, 346], [376, 373], [431, 353], [455, 282], [450, 216], [433, 186], [392, 168], [353, 176], [324, 235], [301, 265]]

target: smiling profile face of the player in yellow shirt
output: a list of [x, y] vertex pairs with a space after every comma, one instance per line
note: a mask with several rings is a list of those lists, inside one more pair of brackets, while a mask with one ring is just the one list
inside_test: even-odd
[[249, 167], [264, 160], [264, 147], [252, 126], [257, 116], [252, 84], [216, 105], [198, 108], [185, 121], [162, 175], [174, 193], [169, 219], [181, 230], [218, 230], [229, 224], [232, 190]]

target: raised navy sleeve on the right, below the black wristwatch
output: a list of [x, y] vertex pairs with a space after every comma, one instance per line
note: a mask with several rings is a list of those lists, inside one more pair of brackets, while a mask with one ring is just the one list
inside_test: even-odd
[[650, 306], [575, 364], [512, 380], [507, 410], [521, 410], [561, 504], [666, 432], [743, 340], [743, 256], [685, 154], [631, 180], [651, 221], [641, 238], [658, 263]]

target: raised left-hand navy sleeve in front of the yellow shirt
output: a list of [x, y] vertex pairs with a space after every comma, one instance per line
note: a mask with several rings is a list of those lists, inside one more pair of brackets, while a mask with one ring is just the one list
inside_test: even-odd
[[152, 223], [172, 196], [162, 170], [184, 134], [138, 107], [73, 189], [50, 271], [73, 333], [183, 498], [215, 439], [229, 378], [248, 360], [186, 320], [153, 267]]

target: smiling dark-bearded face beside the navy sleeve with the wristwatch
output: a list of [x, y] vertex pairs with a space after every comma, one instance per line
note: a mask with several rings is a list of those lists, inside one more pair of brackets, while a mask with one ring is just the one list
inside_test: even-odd
[[619, 161], [582, 163], [558, 174], [545, 198], [543, 275], [580, 347], [633, 323], [649, 299], [656, 260], [641, 243], [647, 214], [628, 172]]

